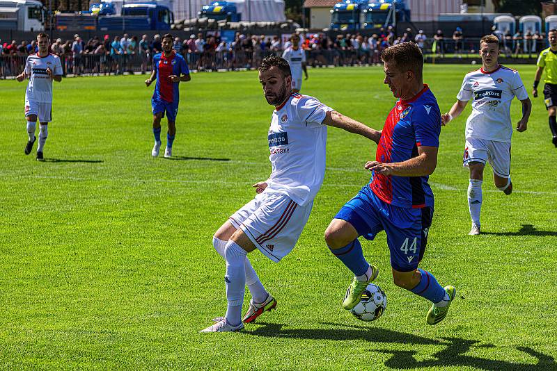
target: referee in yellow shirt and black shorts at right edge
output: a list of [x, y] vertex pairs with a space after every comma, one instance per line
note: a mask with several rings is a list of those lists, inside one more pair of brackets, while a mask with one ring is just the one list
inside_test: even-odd
[[549, 129], [553, 134], [553, 144], [557, 147], [557, 29], [547, 33], [550, 47], [542, 50], [538, 57], [538, 69], [535, 71], [532, 95], [538, 97], [538, 84], [545, 69], [544, 101], [549, 114]]

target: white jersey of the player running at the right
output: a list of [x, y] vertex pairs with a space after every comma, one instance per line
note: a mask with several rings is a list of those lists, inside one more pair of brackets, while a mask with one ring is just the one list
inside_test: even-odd
[[466, 120], [466, 138], [510, 142], [512, 122], [510, 103], [514, 97], [528, 98], [520, 75], [514, 69], [499, 65], [493, 72], [483, 69], [464, 76], [457, 99], [472, 102], [472, 113]]

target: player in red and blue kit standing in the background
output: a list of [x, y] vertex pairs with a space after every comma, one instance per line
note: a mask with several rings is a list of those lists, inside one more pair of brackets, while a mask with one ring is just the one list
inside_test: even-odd
[[152, 58], [152, 72], [145, 85], [149, 86], [156, 79], [155, 91], [152, 93], [152, 133], [155, 135], [155, 146], [151, 155], [159, 156], [161, 147], [161, 119], [166, 113], [168, 120], [168, 133], [166, 133], [166, 150], [164, 157], [172, 156], [172, 144], [176, 135], [176, 115], [180, 101], [180, 81], [190, 81], [189, 69], [184, 57], [172, 49], [172, 35], [166, 33], [162, 37], [162, 53], [155, 54]]

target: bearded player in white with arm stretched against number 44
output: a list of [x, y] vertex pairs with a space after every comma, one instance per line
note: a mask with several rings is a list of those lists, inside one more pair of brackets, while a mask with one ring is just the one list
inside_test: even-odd
[[226, 260], [226, 316], [201, 332], [237, 331], [247, 284], [251, 303], [243, 322], [249, 323], [276, 306], [251, 267], [247, 254], [258, 249], [274, 262], [292, 251], [308, 221], [313, 198], [325, 172], [327, 126], [379, 142], [380, 131], [350, 119], [313, 97], [292, 93], [290, 66], [283, 58], [262, 61], [259, 80], [267, 103], [275, 106], [267, 139], [272, 172], [253, 185], [256, 197], [214, 233], [213, 245]]

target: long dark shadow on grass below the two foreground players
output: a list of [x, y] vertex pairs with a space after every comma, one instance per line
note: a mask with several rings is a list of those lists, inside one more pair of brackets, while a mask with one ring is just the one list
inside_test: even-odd
[[[530, 347], [517, 347], [519, 352], [524, 352], [534, 358], [537, 362], [511, 363], [477, 356], [469, 356], [472, 347], [495, 348], [492, 344], [478, 344], [478, 340], [466, 340], [462, 338], [430, 339], [404, 333], [381, 329], [377, 327], [344, 326], [345, 329], [282, 329], [282, 324], [269, 324], [260, 322], [261, 327], [249, 334], [256, 336], [268, 336], [274, 338], [295, 338], [309, 340], [367, 340], [370, 343], [395, 343], [408, 345], [439, 345], [444, 347], [435, 352], [431, 357], [423, 361], [414, 358], [418, 350], [389, 350], [370, 349], [372, 352], [391, 354], [385, 361], [388, 368], [411, 369], [411, 368], [448, 368], [448, 367], [472, 367], [480, 370], [557, 370], [557, 363], [551, 356], [536, 352]], [[339, 324], [323, 323], [327, 326]], [[416, 348], [416, 347], [414, 347]]]

